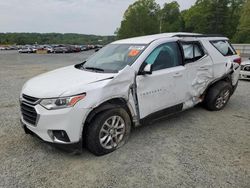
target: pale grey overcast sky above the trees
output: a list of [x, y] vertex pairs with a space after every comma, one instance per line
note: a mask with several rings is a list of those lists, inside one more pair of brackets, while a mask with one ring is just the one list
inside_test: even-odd
[[[0, 32], [113, 35], [136, 0], [0, 0]], [[181, 10], [196, 0], [177, 0]], [[171, 0], [156, 0], [161, 6]]]

